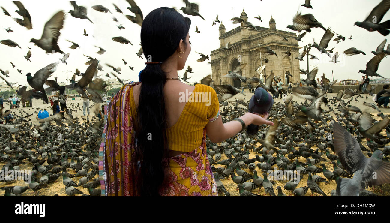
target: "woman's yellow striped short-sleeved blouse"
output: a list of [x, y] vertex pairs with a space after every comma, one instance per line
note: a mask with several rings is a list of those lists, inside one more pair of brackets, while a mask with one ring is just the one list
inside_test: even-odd
[[[214, 88], [196, 84], [192, 94], [183, 92], [179, 100], [186, 102], [184, 109], [174, 126], [167, 129], [167, 140], [170, 150], [191, 152], [202, 144], [203, 130], [208, 122], [220, 115], [218, 97]], [[137, 108], [131, 88], [131, 114], [135, 119]]]

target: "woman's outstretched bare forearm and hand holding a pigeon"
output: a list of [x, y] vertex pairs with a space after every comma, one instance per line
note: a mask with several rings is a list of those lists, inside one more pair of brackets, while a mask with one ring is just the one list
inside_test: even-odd
[[[245, 126], [250, 124], [255, 125], [271, 125], [273, 126], [273, 122], [266, 120], [268, 118], [268, 113], [263, 117], [259, 115], [255, 115], [253, 113], [247, 112], [243, 116], [239, 117], [245, 122]], [[227, 140], [228, 138], [237, 135], [242, 129], [242, 125], [237, 120], [232, 120], [230, 122], [222, 123], [221, 115], [213, 122], [209, 122], [206, 125], [207, 136], [211, 140], [211, 142], [222, 142], [223, 140]]]

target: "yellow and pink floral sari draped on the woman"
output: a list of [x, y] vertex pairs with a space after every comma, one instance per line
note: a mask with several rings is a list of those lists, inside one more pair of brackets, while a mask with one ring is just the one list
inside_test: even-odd
[[[138, 165], [135, 157], [136, 138], [130, 109], [130, 82], [105, 106], [105, 127], [99, 149], [101, 196], [140, 196]], [[191, 152], [166, 158], [165, 179], [161, 196], [218, 196], [217, 186], [206, 153], [206, 128], [202, 144]]]

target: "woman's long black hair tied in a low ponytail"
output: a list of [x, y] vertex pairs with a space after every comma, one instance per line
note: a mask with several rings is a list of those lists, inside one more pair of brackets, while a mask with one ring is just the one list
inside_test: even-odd
[[[191, 20], [168, 7], [151, 11], [142, 22], [141, 44], [149, 62], [164, 62], [177, 51], [186, 38]], [[140, 73], [142, 80], [137, 108], [136, 158], [140, 161], [138, 188], [141, 196], [160, 196], [159, 190], [167, 185], [164, 169], [168, 163], [167, 114], [163, 88], [166, 74], [160, 64], [147, 64]], [[152, 140], [149, 140], [152, 136]]]

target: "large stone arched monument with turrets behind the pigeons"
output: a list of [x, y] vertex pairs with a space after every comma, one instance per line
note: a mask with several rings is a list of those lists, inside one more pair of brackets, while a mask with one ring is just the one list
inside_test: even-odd
[[[241, 19], [248, 21], [246, 13], [241, 13]], [[220, 35], [220, 48], [211, 51], [211, 70], [212, 77], [215, 85], [230, 84], [234, 87], [241, 87], [241, 84], [245, 87], [246, 83], [233, 80], [232, 78], [223, 78], [228, 71], [233, 71], [239, 64], [248, 63], [246, 67], [241, 71], [241, 75], [247, 78], [257, 75], [255, 69], [258, 69], [261, 65], [266, 65], [262, 74], [267, 76], [273, 70], [275, 76], [280, 76], [283, 83], [287, 83], [286, 71], [289, 71], [293, 77], [289, 76], [289, 81], [299, 81], [300, 67], [298, 57], [298, 50], [301, 48], [298, 46], [298, 41], [295, 39], [296, 34], [293, 32], [287, 32], [284, 30], [276, 29], [275, 19], [269, 20], [269, 28], [258, 27], [257, 30], [248, 30], [241, 26], [234, 28], [228, 32], [225, 32], [225, 26], [221, 23], [219, 27]], [[283, 38], [286, 37], [287, 41]], [[225, 49], [226, 44], [230, 42], [232, 50]], [[257, 43], [261, 44], [261, 47], [269, 46], [278, 55], [264, 55], [262, 58], [267, 58], [269, 61], [265, 63], [260, 59], [260, 48]], [[288, 56], [284, 52], [291, 49], [291, 55]], [[241, 55], [241, 56], [239, 56]], [[238, 58], [242, 58], [239, 62]], [[261, 78], [257, 75], [257, 78]]]

